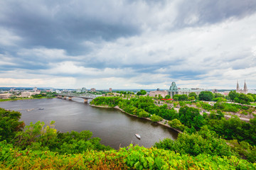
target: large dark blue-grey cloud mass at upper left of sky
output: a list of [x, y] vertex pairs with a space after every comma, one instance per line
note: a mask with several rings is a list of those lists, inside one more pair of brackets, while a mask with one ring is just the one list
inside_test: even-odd
[[[4, 6], [1, 7], [1, 15], [4, 17], [0, 18], [0, 24], [20, 35], [24, 39], [23, 47], [62, 48], [68, 52], [85, 52], [86, 49], [80, 49], [83, 40], [111, 41], [119, 37], [136, 35], [140, 31], [127, 21], [107, 19], [104, 13], [102, 16], [93, 16], [100, 13], [97, 6], [81, 8], [82, 1], [81, 6], [71, 1], [60, 2], [62, 4], [52, 1], [48, 1], [48, 4], [6, 1], [2, 3]], [[95, 11], [92, 13], [84, 12], [94, 7]]]

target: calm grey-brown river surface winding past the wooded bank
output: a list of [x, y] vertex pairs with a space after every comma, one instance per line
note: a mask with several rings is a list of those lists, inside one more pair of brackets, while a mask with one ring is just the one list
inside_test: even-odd
[[[60, 132], [90, 130], [92, 137], [100, 137], [102, 144], [114, 149], [127, 147], [130, 143], [151, 147], [166, 137], [175, 140], [178, 136], [176, 131], [163, 125], [135, 118], [114, 108], [95, 108], [82, 101], [82, 98], [73, 98], [73, 101], [61, 98], [5, 101], [0, 102], [0, 108], [21, 112], [21, 120], [26, 125], [38, 120], [49, 124], [54, 120], [55, 128]], [[135, 137], [135, 133], [141, 136], [141, 140]]]

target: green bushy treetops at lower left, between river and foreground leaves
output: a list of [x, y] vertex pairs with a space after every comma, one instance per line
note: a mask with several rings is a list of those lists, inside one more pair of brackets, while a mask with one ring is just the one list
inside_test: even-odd
[[53, 123], [45, 126], [45, 123], [38, 121], [27, 125], [24, 131], [16, 133], [14, 144], [21, 149], [50, 150], [60, 154], [77, 154], [87, 149], [110, 149], [100, 144], [100, 138], [90, 139], [92, 132], [88, 130], [60, 133], [55, 130]]

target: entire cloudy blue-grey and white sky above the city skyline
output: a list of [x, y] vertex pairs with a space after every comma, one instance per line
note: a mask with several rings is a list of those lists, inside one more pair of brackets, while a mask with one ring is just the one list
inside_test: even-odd
[[0, 86], [256, 89], [255, 0], [0, 0]]

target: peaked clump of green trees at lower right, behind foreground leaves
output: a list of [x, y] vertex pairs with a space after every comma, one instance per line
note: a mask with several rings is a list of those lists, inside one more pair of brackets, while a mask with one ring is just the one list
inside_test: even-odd
[[231, 156], [231, 148], [226, 141], [216, 136], [215, 132], [208, 130], [204, 126], [200, 131], [188, 134], [180, 133], [177, 140], [165, 139], [156, 142], [154, 145], [159, 149], [169, 149], [181, 154], [190, 154], [197, 156], [198, 154], [210, 154], [218, 156]]

